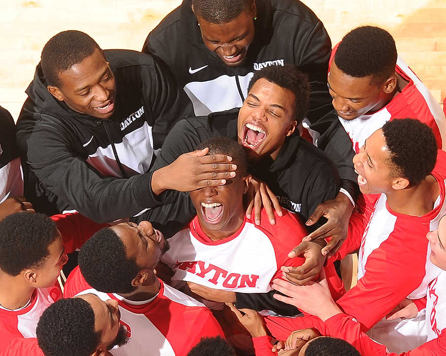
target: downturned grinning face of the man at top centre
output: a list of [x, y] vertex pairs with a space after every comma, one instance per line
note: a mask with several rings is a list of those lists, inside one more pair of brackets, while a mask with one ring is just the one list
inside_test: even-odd
[[208, 22], [197, 15], [203, 43], [229, 67], [242, 64], [248, 47], [254, 39], [254, 21], [256, 5], [249, 11], [226, 23]]

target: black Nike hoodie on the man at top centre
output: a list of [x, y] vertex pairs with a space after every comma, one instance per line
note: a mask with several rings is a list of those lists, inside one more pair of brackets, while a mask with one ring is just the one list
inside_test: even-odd
[[[331, 105], [327, 88], [331, 41], [320, 19], [297, 0], [256, 0], [255, 37], [245, 61], [227, 66], [206, 48], [192, 0], [167, 15], [144, 43], [143, 52], [164, 61], [193, 103], [195, 115], [241, 107], [253, 73], [271, 65], [293, 65], [309, 76], [310, 110], [305, 124], [315, 144], [339, 170], [341, 188], [359, 193], [352, 142]], [[186, 98], [187, 99], [187, 98]]]

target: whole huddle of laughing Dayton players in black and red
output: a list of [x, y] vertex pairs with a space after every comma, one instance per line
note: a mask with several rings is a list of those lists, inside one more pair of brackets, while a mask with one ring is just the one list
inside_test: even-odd
[[384, 29], [183, 0], [141, 52], [56, 34], [26, 94], [0, 355], [446, 354], [446, 120]]

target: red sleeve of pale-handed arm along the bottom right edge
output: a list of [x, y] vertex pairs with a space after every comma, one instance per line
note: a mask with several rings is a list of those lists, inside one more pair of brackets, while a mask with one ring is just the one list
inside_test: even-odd
[[388, 352], [385, 345], [370, 339], [361, 331], [361, 325], [346, 314], [337, 314], [325, 321], [327, 335], [346, 340], [362, 355], [386, 356], [440, 356], [446, 354], [446, 330], [442, 330], [438, 338], [431, 340], [416, 349], [397, 354]]

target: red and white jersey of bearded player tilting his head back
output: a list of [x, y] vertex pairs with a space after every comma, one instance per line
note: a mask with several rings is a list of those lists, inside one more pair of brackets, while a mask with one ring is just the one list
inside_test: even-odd
[[130, 340], [113, 349], [114, 356], [175, 356], [186, 355], [202, 337], [224, 337], [212, 313], [200, 302], [172, 288], [160, 280], [158, 294], [144, 304], [133, 305], [114, 293], [103, 293], [85, 281], [79, 266], [70, 274], [63, 294], [94, 293], [103, 301], [115, 299], [119, 303], [121, 324]]

